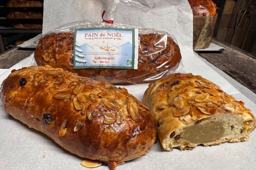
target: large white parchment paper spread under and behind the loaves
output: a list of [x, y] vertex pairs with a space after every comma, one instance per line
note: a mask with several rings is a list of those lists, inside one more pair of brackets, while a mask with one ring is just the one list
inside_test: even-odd
[[[65, 3], [63, 3], [65, 2]], [[243, 87], [192, 50], [192, 11], [187, 0], [154, 0], [155, 8], [131, 8], [120, 5], [115, 23], [157, 28], [173, 34], [180, 46], [183, 69], [218, 84], [228, 94], [242, 100], [256, 113], [255, 94]], [[99, 11], [99, 15], [96, 14]], [[44, 32], [64, 23], [90, 19], [101, 21], [101, 9], [89, 0], [44, 0]], [[118, 16], [118, 17], [117, 17]], [[0, 83], [12, 69], [33, 65], [33, 56], [20, 61], [3, 74]], [[124, 85], [142, 99], [148, 84]], [[234, 87], [236, 86], [236, 88]], [[237, 88], [239, 90], [237, 90]], [[243, 94], [241, 93], [243, 92]], [[244, 95], [245, 94], [245, 95]], [[250, 99], [248, 97], [250, 96]], [[256, 101], [256, 100], [254, 100]], [[1, 105], [1, 104], [0, 104]], [[13, 119], [0, 106], [0, 170], [84, 170], [82, 158], [69, 153], [43, 133], [29, 129]], [[198, 146], [191, 151], [174, 149], [167, 152], [159, 142], [148, 153], [126, 162], [116, 170], [254, 170], [256, 162], [256, 133], [247, 142], [224, 143], [218, 146]], [[95, 170], [107, 170], [104, 164]]]

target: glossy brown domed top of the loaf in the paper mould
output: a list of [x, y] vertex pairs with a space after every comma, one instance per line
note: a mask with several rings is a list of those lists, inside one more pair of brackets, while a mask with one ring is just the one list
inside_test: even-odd
[[189, 0], [194, 16], [215, 16], [217, 7], [212, 0]]

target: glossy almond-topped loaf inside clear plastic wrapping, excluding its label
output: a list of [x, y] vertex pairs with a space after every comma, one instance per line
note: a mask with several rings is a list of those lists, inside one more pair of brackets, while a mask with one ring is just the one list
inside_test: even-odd
[[[53, 68], [63, 68], [66, 71], [77, 73], [83, 77], [113, 84], [152, 82], [157, 77], [163, 76], [168, 70], [175, 71], [181, 60], [178, 45], [171, 37], [167, 37], [166, 48], [164, 48], [164, 41], [160, 41], [163, 36], [163, 34], [139, 34], [140, 46], [137, 70], [108, 68], [74, 69], [74, 33], [46, 34], [41, 38], [35, 50], [35, 61], [38, 65], [51, 65]], [[159, 43], [157, 44], [157, 42]], [[151, 77], [154, 78], [150, 79]]]

